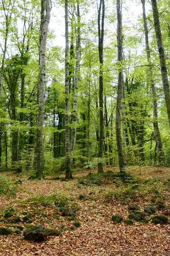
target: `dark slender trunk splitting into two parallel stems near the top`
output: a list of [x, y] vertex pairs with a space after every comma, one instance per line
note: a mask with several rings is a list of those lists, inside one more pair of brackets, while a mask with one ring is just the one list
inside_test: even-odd
[[[102, 24], [100, 28], [100, 15], [102, 9]], [[98, 38], [99, 38], [99, 153], [98, 157], [103, 157], [103, 137], [104, 137], [104, 120], [103, 120], [103, 39], [104, 39], [104, 20], [105, 20], [105, 0], [100, 0], [98, 10]], [[102, 161], [98, 163], [98, 172], [103, 172]]]

